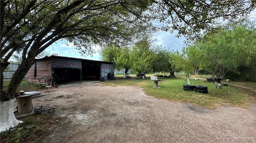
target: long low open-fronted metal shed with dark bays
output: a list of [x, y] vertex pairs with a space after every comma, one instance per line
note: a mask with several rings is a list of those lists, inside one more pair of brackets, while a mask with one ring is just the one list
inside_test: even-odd
[[40, 79], [43, 78], [52, 79], [57, 83], [109, 80], [113, 75], [114, 63], [112, 62], [52, 55], [35, 60], [28, 71], [28, 82], [40, 84]]

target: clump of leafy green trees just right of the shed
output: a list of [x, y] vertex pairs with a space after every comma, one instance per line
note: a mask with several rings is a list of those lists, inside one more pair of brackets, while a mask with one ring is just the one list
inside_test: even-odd
[[147, 38], [138, 41], [131, 47], [105, 45], [101, 49], [100, 55], [102, 60], [114, 62], [117, 70], [125, 69], [124, 78], [129, 69], [137, 73], [150, 71], [155, 56]]

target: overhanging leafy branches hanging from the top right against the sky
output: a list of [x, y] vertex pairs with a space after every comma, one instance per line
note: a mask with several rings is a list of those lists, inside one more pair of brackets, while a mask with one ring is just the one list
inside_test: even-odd
[[154, 10], [162, 22], [162, 30], [178, 31], [190, 41], [201, 39], [205, 33], [215, 33], [216, 25], [224, 21], [239, 23], [256, 8], [255, 0], [160, 0]]

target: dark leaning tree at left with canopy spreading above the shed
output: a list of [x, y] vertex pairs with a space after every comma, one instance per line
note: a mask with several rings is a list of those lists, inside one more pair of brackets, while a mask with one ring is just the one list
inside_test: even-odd
[[[1, 1], [1, 72], [15, 51], [22, 63], [7, 92], [12, 98], [34, 58], [59, 39], [72, 42], [83, 53], [92, 44], [129, 43], [145, 30], [137, 17], [145, 1]], [[2, 90], [1, 90], [2, 91]]]

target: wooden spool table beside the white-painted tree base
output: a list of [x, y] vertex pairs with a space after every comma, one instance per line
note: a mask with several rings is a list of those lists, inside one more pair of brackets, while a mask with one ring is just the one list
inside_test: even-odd
[[24, 92], [24, 95], [18, 96], [18, 113], [25, 114], [32, 111], [32, 96], [41, 94], [41, 92]]

